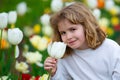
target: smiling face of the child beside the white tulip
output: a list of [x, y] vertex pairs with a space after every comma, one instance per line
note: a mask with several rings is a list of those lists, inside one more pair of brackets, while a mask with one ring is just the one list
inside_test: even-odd
[[72, 24], [68, 20], [61, 20], [58, 23], [62, 41], [72, 49], [87, 49], [84, 29], [81, 24]]

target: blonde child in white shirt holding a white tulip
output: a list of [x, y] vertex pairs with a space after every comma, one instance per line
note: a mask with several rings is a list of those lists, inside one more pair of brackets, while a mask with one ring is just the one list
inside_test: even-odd
[[44, 68], [52, 80], [120, 80], [120, 46], [106, 38], [91, 11], [73, 3], [50, 19], [54, 41], [67, 44], [65, 55], [48, 57]]

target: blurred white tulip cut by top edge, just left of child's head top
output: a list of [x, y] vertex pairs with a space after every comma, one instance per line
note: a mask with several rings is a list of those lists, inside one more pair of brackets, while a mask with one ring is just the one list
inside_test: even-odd
[[62, 0], [52, 0], [51, 2], [51, 9], [53, 12], [58, 12], [63, 7]]

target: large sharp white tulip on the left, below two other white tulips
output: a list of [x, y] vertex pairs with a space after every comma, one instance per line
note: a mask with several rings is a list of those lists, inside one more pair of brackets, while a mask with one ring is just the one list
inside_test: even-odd
[[23, 33], [19, 28], [8, 29], [8, 41], [13, 44], [19, 44], [23, 39]]

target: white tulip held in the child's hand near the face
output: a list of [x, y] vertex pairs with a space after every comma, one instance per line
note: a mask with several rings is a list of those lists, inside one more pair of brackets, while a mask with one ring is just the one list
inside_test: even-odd
[[50, 43], [48, 45], [48, 54], [56, 59], [60, 59], [63, 57], [65, 50], [66, 50], [66, 44], [63, 42], [54, 42]]

